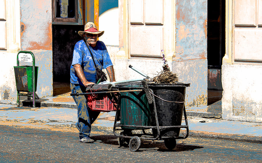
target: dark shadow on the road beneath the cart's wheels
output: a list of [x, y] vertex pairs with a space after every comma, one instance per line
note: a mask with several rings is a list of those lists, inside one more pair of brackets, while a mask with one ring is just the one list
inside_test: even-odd
[[[129, 147], [120, 147], [117, 142], [117, 137], [114, 135], [97, 135], [91, 136], [91, 139], [95, 142], [116, 145], [118, 148], [128, 149]], [[195, 149], [204, 148], [203, 146], [187, 145], [186, 143], [177, 143], [173, 150], [169, 150], [164, 145], [164, 142], [151, 142], [142, 140], [141, 146], [137, 152], [152, 151], [152, 152], [183, 152], [183, 151], [194, 151]]]

